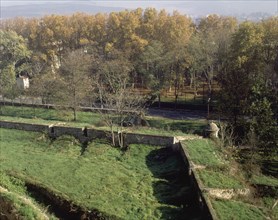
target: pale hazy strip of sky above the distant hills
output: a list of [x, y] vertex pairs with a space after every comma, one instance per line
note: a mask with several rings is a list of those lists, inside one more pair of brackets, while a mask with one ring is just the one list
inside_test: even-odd
[[235, 14], [250, 14], [255, 12], [263, 12], [269, 14], [278, 14], [278, 0], [180, 0], [180, 1], [163, 1], [163, 0], [110, 0], [110, 1], [95, 1], [95, 0], [79, 0], [79, 1], [14, 1], [14, 0], [0, 0], [1, 6], [15, 6], [15, 5], [34, 5], [34, 4], [55, 4], [63, 3], [69, 4], [70, 2], [75, 2], [79, 4], [90, 4], [97, 6], [106, 7], [122, 7], [127, 9], [134, 8], [147, 8], [154, 7], [157, 9], [166, 9], [168, 12], [173, 10], [178, 10], [183, 14], [188, 15], [206, 15], [206, 14], [223, 14], [223, 15], [235, 15]]

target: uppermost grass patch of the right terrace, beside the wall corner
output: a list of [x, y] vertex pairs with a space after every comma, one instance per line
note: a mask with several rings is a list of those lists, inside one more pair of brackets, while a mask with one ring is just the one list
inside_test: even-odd
[[221, 149], [210, 139], [187, 140], [183, 146], [190, 160], [198, 165], [222, 166], [227, 163], [221, 154]]

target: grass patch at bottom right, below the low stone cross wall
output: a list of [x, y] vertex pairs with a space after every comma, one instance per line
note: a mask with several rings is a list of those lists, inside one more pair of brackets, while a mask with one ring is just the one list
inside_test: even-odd
[[239, 201], [213, 200], [212, 205], [219, 219], [261, 220], [266, 219], [263, 211]]

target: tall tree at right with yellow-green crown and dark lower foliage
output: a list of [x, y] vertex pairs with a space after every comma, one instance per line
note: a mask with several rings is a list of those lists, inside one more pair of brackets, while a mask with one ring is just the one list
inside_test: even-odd
[[219, 76], [220, 104], [223, 113], [238, 125], [238, 119], [248, 108], [247, 99], [253, 85], [263, 76], [261, 54], [262, 29], [244, 22], [233, 35], [226, 70]]

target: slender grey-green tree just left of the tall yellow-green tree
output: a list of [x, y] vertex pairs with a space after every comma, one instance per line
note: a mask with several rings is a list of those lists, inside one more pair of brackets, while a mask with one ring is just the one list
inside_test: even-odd
[[213, 80], [226, 66], [231, 36], [237, 21], [232, 17], [209, 15], [201, 19], [197, 35], [201, 50], [202, 73], [208, 85], [208, 98], [212, 95]]

